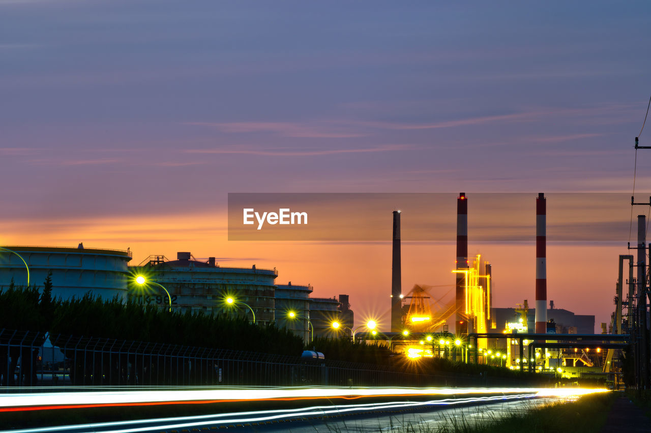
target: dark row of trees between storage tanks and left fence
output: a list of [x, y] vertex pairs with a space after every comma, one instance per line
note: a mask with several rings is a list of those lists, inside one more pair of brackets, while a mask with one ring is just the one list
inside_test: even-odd
[[53, 300], [48, 276], [42, 290], [10, 285], [0, 291], [0, 328], [38, 331], [43, 335], [161, 342], [298, 356], [301, 339], [270, 324], [256, 326], [203, 312], [169, 312], [118, 298], [104, 300], [87, 293], [82, 298]]

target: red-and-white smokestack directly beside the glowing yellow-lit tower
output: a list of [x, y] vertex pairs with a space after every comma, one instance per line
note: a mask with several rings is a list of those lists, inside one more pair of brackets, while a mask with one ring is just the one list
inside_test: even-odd
[[[456, 199], [456, 268], [468, 268], [468, 199], [459, 193]], [[467, 333], [465, 316], [465, 273], [456, 273], [456, 333]]]

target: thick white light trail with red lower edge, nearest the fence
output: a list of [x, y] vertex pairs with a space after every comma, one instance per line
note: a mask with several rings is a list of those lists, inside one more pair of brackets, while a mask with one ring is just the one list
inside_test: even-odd
[[540, 393], [565, 397], [595, 392], [595, 389], [547, 388], [238, 388], [165, 391], [109, 391], [74, 393], [28, 393], [0, 395], [0, 412], [106, 406], [153, 406], [158, 404], [208, 404], [264, 400], [310, 400], [316, 398], [411, 397], [467, 394]]

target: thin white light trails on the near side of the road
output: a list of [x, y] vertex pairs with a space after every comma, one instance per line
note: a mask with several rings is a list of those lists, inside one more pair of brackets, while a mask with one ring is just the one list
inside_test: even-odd
[[[415, 409], [424, 408], [426, 406], [452, 406], [459, 404], [494, 402], [497, 400], [521, 400], [523, 398], [534, 398], [536, 396], [536, 393], [521, 393], [513, 395], [494, 395], [489, 397], [445, 398], [424, 402], [393, 401], [367, 404], [311, 406], [307, 408], [286, 410], [263, 410], [174, 418], [139, 419], [135, 421], [115, 421], [109, 423], [89, 423], [56, 427], [49, 426], [44, 428], [26, 428], [21, 430], [3, 431], [13, 433], [45, 433], [88, 430], [92, 432], [135, 433], [161, 429], [192, 428], [211, 423], [218, 425], [242, 425], [247, 423], [265, 423], [280, 419], [296, 419], [299, 417], [322, 417], [342, 413], [370, 412], [387, 409]], [[128, 428], [116, 429], [116, 427], [119, 428], [120, 426], [128, 426]]]

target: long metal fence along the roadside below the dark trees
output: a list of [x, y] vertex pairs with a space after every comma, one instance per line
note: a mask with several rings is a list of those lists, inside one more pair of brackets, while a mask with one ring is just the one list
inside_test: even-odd
[[[412, 365], [413, 367], [413, 365]], [[504, 385], [504, 378], [0, 329], [0, 385]]]

